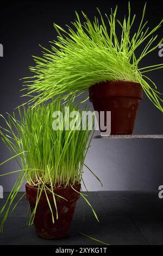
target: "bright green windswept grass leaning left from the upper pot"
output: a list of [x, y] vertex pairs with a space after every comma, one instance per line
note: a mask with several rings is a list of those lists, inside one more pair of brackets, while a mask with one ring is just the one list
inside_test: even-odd
[[[51, 42], [51, 50], [42, 47], [42, 57], [34, 56], [36, 65], [30, 67], [34, 76], [25, 81], [23, 90], [28, 90], [25, 95], [32, 96], [29, 102], [37, 105], [59, 94], [67, 99], [87, 92], [90, 86], [99, 82], [132, 81], [139, 82], [148, 98], [163, 112], [156, 84], [145, 75], [163, 68], [163, 64], [139, 68], [141, 60], [161, 44], [162, 39], [156, 42], [158, 35], [154, 34], [163, 20], [149, 30], [147, 21], [144, 22], [145, 5], [140, 25], [134, 32], [135, 15], [131, 17], [130, 3], [128, 17], [124, 16], [123, 21], [117, 19], [117, 7], [114, 11], [111, 9], [109, 16], [105, 14], [106, 21], [97, 10], [100, 19], [95, 16], [93, 22], [82, 12], [85, 19], [82, 23], [76, 13], [77, 20], [72, 22], [72, 27], [67, 26], [67, 31], [54, 24], [58, 40]], [[120, 38], [117, 26], [121, 29]], [[138, 48], [139, 56], [136, 54]], [[83, 100], [86, 99], [80, 101]]]

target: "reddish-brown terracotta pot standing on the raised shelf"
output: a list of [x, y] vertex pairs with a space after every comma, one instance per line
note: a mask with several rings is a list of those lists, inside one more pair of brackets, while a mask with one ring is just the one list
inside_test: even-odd
[[105, 119], [106, 111], [111, 111], [112, 135], [133, 133], [142, 93], [139, 83], [127, 81], [103, 82], [89, 88], [90, 101], [95, 111], [104, 111]]

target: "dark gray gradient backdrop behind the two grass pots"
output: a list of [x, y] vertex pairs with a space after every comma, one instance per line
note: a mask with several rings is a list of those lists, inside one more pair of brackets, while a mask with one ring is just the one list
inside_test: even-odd
[[[130, 1], [132, 13], [141, 14], [145, 1]], [[48, 47], [48, 41], [55, 39], [57, 33], [53, 22], [60, 26], [70, 25], [74, 20], [74, 10], [83, 10], [91, 19], [97, 14], [109, 13], [118, 3], [120, 19], [127, 13], [127, 1], [15, 1], [1, 3], [0, 43], [4, 46], [4, 57], [0, 58], [0, 113], [11, 113], [25, 99], [21, 96], [20, 78], [30, 75], [28, 66], [33, 65], [32, 55], [40, 56], [39, 44]], [[154, 27], [162, 19], [162, 1], [147, 1], [146, 18], [149, 26]], [[163, 29], [159, 30], [160, 38]], [[141, 65], [162, 63], [163, 57], [158, 50], [148, 56]], [[162, 70], [154, 71], [150, 77], [163, 92]], [[144, 95], [140, 104], [135, 130], [136, 134], [163, 133], [162, 113]], [[0, 125], [4, 123], [0, 120]], [[0, 142], [0, 162], [10, 157], [7, 148]], [[163, 184], [162, 140], [109, 140], [94, 139], [86, 158], [86, 164], [103, 182], [103, 188], [87, 171], [84, 173], [87, 188], [98, 190], [156, 190]], [[16, 170], [15, 162], [1, 166], [1, 173]], [[10, 191], [16, 175], [0, 177], [4, 191]], [[22, 188], [24, 190], [24, 188]]]

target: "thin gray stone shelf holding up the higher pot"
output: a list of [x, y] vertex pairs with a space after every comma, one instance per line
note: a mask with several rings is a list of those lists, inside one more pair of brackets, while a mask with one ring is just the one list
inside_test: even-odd
[[97, 135], [95, 139], [163, 139], [162, 134], [152, 134], [152, 135], [109, 135], [101, 136]]

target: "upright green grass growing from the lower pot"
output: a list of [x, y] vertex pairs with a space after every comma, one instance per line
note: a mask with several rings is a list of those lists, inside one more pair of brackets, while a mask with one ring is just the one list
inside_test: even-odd
[[[65, 107], [69, 107], [69, 113], [65, 112]], [[48, 105], [38, 105], [35, 108], [28, 109], [23, 108], [23, 111], [18, 108], [18, 118], [16, 118], [15, 113], [8, 115], [7, 119], [3, 117], [7, 127], [1, 127], [0, 134], [12, 157], [1, 164], [15, 159], [20, 169], [2, 175], [16, 172], [19, 172], [20, 175], [0, 212], [0, 215], [5, 212], [1, 231], [3, 231], [3, 224], [7, 220], [11, 205], [24, 181], [27, 181], [32, 186], [37, 186], [41, 192], [46, 188], [51, 191], [56, 210], [54, 188], [69, 186], [75, 190], [76, 185], [83, 181], [83, 169], [87, 167], [84, 161], [90, 148], [92, 130], [79, 130], [78, 126], [76, 126], [76, 130], [54, 130], [52, 127], [54, 111], [62, 112], [64, 118], [59, 119], [59, 124], [63, 124], [63, 127], [65, 127], [67, 119], [72, 121], [71, 111], [78, 110], [78, 106], [73, 106], [71, 102], [63, 106], [59, 100], [55, 100]], [[85, 110], [85, 107], [82, 110]], [[80, 111], [80, 116], [82, 117], [82, 111]], [[88, 170], [90, 169], [88, 168]], [[41, 197], [41, 192], [39, 198]], [[81, 193], [81, 196], [90, 205], [83, 193]], [[39, 198], [29, 224], [34, 218]], [[15, 209], [15, 206], [13, 209]], [[91, 205], [90, 207], [92, 208]], [[51, 208], [51, 205], [49, 205], [49, 208]], [[97, 218], [94, 210], [93, 213]], [[52, 219], [54, 222], [53, 213]]]

